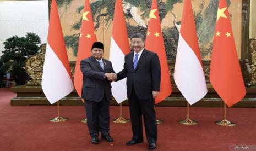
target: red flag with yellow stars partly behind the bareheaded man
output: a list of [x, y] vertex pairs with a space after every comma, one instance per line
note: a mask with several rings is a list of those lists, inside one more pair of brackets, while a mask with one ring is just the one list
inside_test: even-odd
[[162, 38], [162, 28], [159, 18], [159, 10], [156, 0], [152, 1], [149, 16], [148, 32], [146, 34], [145, 49], [154, 51], [160, 60], [161, 85], [159, 96], [155, 98], [155, 104], [165, 100], [172, 92], [171, 79], [165, 52], [164, 39]]

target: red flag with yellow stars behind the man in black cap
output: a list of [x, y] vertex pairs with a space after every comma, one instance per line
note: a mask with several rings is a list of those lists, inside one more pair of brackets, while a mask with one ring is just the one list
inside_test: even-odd
[[92, 20], [91, 8], [89, 0], [85, 0], [83, 20], [81, 24], [81, 32], [79, 36], [79, 46], [77, 53], [77, 62], [75, 64], [74, 85], [79, 97], [83, 86], [83, 73], [80, 69], [81, 60], [91, 56], [91, 47], [96, 42], [96, 34], [94, 30], [94, 22]]

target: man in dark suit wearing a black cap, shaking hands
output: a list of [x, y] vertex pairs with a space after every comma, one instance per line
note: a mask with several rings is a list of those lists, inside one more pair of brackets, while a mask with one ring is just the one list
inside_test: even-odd
[[110, 112], [109, 102], [112, 99], [110, 73], [114, 72], [112, 63], [103, 59], [104, 46], [95, 42], [91, 48], [91, 57], [81, 60], [83, 72], [83, 89], [81, 98], [85, 100], [87, 126], [92, 137], [92, 144], [99, 143], [101, 137], [108, 142], [113, 142], [109, 134]]

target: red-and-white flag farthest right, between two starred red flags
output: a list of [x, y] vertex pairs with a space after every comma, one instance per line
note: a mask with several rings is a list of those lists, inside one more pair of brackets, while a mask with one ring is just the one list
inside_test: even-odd
[[190, 105], [207, 94], [190, 0], [185, 0], [174, 71], [175, 83]]

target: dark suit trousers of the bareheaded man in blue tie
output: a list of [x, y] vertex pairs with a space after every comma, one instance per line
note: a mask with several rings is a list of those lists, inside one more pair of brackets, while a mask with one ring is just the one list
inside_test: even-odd
[[134, 88], [129, 99], [130, 119], [132, 121], [133, 140], [143, 140], [142, 117], [144, 119], [146, 139], [148, 143], [156, 143], [157, 141], [157, 125], [155, 115], [154, 98], [140, 100]]

